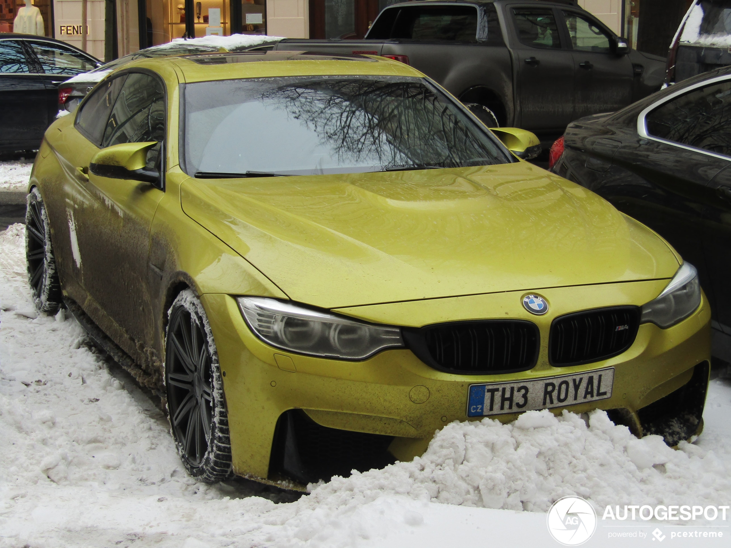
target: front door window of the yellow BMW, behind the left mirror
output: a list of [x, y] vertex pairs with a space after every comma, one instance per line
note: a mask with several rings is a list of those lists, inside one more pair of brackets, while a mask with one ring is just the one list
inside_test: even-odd
[[[156, 77], [130, 74], [119, 92], [107, 122], [102, 148], [123, 142], [157, 141], [165, 138], [165, 91]], [[148, 167], [155, 167], [161, 145], [148, 151]]]

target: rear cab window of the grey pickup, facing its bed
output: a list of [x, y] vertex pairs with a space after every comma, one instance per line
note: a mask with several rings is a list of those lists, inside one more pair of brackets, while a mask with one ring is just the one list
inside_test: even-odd
[[414, 40], [477, 41], [477, 8], [424, 6], [401, 8], [391, 38]]

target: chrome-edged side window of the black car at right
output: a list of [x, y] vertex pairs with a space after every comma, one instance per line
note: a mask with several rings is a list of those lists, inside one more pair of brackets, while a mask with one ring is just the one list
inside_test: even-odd
[[731, 81], [689, 91], [645, 117], [648, 134], [731, 156]]

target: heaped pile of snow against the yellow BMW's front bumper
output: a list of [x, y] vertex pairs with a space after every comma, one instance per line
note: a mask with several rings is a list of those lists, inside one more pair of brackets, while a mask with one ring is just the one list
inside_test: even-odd
[[588, 416], [529, 411], [510, 425], [493, 419], [453, 422], [435, 436], [423, 457], [382, 471], [333, 479], [312, 492], [327, 501], [343, 493], [367, 497], [391, 492], [416, 499], [548, 511], [565, 495], [607, 504], [716, 504], [731, 498], [728, 462], [656, 435], [641, 440], [614, 425], [604, 411]]

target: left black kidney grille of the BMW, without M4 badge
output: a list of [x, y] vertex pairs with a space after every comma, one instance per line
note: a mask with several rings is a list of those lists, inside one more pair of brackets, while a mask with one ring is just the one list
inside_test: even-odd
[[538, 359], [538, 327], [531, 321], [459, 321], [403, 332], [406, 345], [419, 359], [449, 373], [524, 371]]

